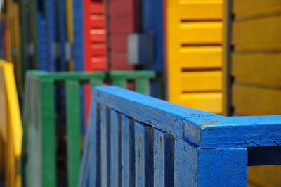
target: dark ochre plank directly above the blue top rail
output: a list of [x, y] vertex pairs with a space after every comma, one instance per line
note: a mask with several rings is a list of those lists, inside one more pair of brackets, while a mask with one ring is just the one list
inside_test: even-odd
[[281, 115], [280, 89], [233, 85], [236, 115]]

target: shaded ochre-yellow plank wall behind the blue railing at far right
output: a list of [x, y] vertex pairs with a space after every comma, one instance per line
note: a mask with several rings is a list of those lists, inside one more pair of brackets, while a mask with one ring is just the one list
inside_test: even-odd
[[[277, 0], [226, 1], [224, 86], [228, 100], [224, 105], [228, 115], [281, 113], [280, 7]], [[280, 169], [250, 167], [249, 183], [280, 186]]]

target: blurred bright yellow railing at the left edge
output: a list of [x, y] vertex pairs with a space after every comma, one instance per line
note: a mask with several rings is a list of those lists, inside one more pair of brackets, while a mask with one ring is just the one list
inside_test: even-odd
[[4, 141], [6, 186], [20, 187], [18, 162], [22, 150], [22, 121], [13, 64], [0, 60], [0, 136]]

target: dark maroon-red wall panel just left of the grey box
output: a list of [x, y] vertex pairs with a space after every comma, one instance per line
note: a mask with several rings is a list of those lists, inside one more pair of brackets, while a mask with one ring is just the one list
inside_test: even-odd
[[128, 35], [138, 32], [138, 1], [137, 0], [109, 0], [108, 1], [109, 37], [107, 47], [112, 70], [134, 70], [127, 60]]

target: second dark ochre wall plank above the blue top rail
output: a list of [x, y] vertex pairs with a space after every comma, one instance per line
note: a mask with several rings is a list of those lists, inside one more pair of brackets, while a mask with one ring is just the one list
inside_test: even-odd
[[281, 53], [233, 53], [235, 82], [279, 89]]

